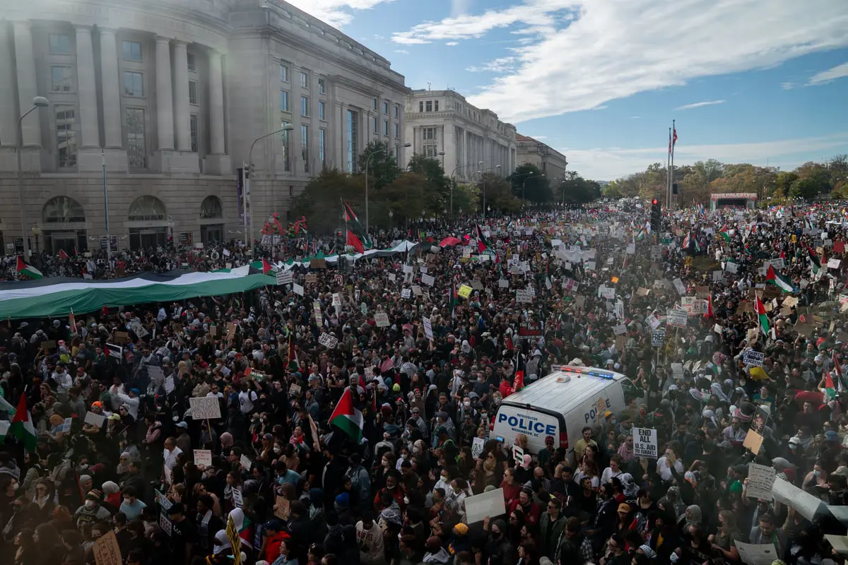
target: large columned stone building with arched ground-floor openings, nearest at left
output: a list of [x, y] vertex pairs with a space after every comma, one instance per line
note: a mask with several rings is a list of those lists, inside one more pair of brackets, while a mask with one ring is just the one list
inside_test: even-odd
[[[368, 142], [399, 143], [407, 92], [388, 60], [282, 0], [11, 3], [3, 252], [24, 237], [49, 252], [103, 246], [107, 209], [121, 248], [258, 237], [321, 169], [354, 170]], [[49, 105], [21, 119], [35, 97]], [[238, 169], [251, 147], [245, 230]]]

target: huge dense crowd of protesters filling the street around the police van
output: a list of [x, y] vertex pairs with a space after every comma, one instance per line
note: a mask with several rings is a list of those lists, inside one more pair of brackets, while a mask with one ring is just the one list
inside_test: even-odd
[[[97, 565], [734, 565], [741, 544], [844, 565], [825, 537], [845, 533], [826, 510], [848, 479], [845, 261], [828, 263], [845, 251], [844, 210], [689, 208], [650, 230], [648, 206], [632, 206], [434, 224], [432, 245], [360, 259], [341, 280], [296, 272], [302, 296], [269, 285], [0, 322], [3, 411], [24, 406], [36, 432], [30, 444], [4, 426], [3, 562], [103, 561], [96, 544], [114, 532], [120, 556]], [[460, 244], [439, 248], [449, 235]], [[233, 266], [269, 253], [227, 248]], [[88, 272], [223, 266], [209, 254], [95, 253]], [[91, 259], [38, 264], [81, 277]], [[790, 291], [766, 280], [769, 261]], [[533, 302], [516, 302], [529, 287]], [[707, 311], [654, 345], [654, 325], [696, 295]], [[541, 335], [520, 336], [527, 321]], [[548, 437], [516, 463], [490, 435], [500, 403], [568, 363], [624, 374], [638, 394], [575, 445]], [[343, 395], [361, 439], [329, 423]], [[192, 418], [200, 396], [220, 418]], [[743, 444], [763, 413], [754, 453]], [[633, 427], [657, 430], [661, 457], [634, 453]], [[750, 463], [823, 509], [747, 496]], [[466, 499], [498, 489], [505, 512], [468, 523]]]

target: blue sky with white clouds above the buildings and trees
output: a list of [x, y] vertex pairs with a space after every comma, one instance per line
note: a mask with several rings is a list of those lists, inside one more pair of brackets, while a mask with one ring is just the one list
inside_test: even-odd
[[597, 180], [848, 152], [845, 0], [290, 0]]

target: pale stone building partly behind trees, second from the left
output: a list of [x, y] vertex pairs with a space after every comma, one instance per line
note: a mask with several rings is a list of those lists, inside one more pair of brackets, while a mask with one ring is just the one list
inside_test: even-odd
[[407, 160], [438, 158], [445, 174], [463, 182], [477, 180], [477, 171], [507, 175], [516, 167], [516, 126], [455, 91], [411, 91], [405, 117]]

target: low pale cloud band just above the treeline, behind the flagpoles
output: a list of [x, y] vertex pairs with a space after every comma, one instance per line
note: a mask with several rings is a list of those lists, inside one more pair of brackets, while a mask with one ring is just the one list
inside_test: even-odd
[[[820, 159], [828, 153], [848, 152], [848, 132], [834, 136], [806, 137], [756, 143], [727, 143], [689, 146], [678, 141], [674, 150], [674, 164], [690, 164], [706, 159], [722, 163], [753, 163], [784, 169], [794, 168], [807, 160]], [[644, 171], [650, 163], [666, 163], [668, 146], [656, 147], [599, 147], [594, 149], [569, 149], [556, 147], [568, 158], [568, 168], [585, 178], [613, 180], [631, 173]]]

